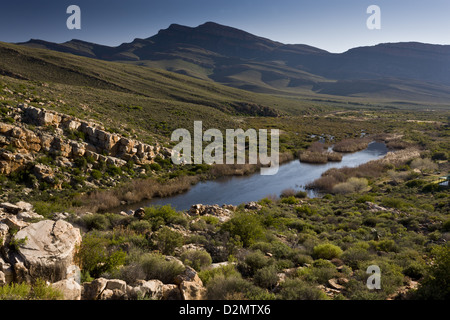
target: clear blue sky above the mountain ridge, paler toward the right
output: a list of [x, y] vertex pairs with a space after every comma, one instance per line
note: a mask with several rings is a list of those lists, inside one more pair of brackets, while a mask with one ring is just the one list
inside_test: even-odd
[[[81, 9], [80, 30], [66, 26], [69, 5]], [[367, 28], [370, 5], [380, 8], [381, 29]], [[117, 46], [172, 23], [207, 21], [336, 53], [385, 42], [450, 45], [450, 0], [1, 0], [0, 41], [80, 39]]]

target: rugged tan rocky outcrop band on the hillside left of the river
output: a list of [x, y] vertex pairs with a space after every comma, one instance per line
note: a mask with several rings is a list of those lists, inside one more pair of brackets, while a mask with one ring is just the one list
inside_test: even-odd
[[[27, 168], [38, 180], [52, 183], [58, 167], [74, 167], [81, 157], [116, 167], [132, 161], [138, 169], [157, 156], [164, 159], [171, 154], [159, 144], [148, 145], [107, 132], [99, 124], [27, 104], [11, 107], [9, 118], [12, 123], [0, 122], [0, 174], [4, 175]], [[56, 160], [56, 168], [37, 161], [44, 155]]]

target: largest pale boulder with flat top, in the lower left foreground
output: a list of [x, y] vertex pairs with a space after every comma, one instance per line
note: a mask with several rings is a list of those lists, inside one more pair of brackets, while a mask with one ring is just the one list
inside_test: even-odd
[[50, 282], [67, 278], [74, 265], [76, 248], [81, 244], [80, 230], [64, 220], [31, 224], [17, 232], [14, 239], [25, 239], [19, 255], [29, 275]]

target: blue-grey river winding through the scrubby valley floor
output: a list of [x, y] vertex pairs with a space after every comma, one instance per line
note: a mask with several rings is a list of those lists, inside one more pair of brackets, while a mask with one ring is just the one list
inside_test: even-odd
[[[344, 154], [341, 162], [326, 164], [301, 163], [298, 159], [280, 166], [278, 173], [272, 176], [255, 174], [244, 177], [222, 178], [214, 181], [200, 182], [188, 192], [168, 198], [147, 201], [145, 205], [171, 204], [177, 210], [188, 210], [193, 204], [239, 205], [250, 201], [258, 201], [266, 196], [279, 196], [288, 188], [305, 190], [304, 186], [330, 168], [356, 167], [371, 160], [383, 157], [387, 153], [386, 145], [372, 142], [365, 150]], [[308, 190], [309, 197], [317, 196]]]

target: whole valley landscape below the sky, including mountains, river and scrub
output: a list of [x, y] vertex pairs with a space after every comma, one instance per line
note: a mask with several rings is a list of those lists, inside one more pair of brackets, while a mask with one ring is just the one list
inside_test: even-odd
[[[118, 47], [1, 42], [0, 298], [448, 299], [449, 61], [215, 23]], [[171, 135], [195, 121], [279, 130], [287, 170], [174, 164]], [[36, 262], [50, 235], [69, 253]]]

